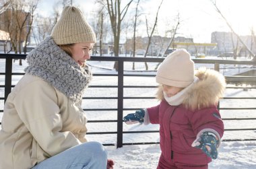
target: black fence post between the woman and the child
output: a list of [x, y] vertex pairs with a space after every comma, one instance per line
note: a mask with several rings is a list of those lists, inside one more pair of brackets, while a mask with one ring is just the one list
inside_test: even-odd
[[123, 60], [118, 61], [117, 148], [123, 147]]

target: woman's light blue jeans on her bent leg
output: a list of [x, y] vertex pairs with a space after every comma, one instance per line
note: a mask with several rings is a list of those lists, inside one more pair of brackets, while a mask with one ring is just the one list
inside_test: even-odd
[[106, 169], [107, 154], [101, 143], [90, 141], [48, 158], [32, 169]]

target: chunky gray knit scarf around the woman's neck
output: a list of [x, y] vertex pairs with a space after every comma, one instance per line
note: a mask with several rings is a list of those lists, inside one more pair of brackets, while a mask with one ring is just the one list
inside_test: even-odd
[[51, 36], [45, 38], [28, 56], [25, 72], [48, 81], [65, 96], [78, 102], [92, 79], [89, 67], [80, 67]]

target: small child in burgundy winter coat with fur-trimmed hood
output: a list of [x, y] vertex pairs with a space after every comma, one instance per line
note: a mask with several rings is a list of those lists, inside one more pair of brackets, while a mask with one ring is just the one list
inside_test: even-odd
[[185, 49], [168, 55], [156, 74], [158, 106], [127, 114], [127, 124], [160, 124], [160, 168], [206, 169], [218, 156], [224, 133], [217, 105], [226, 83], [217, 71], [199, 69]]

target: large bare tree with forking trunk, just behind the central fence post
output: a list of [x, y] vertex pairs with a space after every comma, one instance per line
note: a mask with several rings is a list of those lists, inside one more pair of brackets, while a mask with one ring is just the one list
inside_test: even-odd
[[[111, 28], [113, 31], [113, 38], [114, 38], [114, 48], [113, 52], [115, 57], [119, 56], [119, 41], [120, 41], [120, 34], [121, 34], [121, 22], [125, 17], [129, 6], [131, 5], [133, 0], [129, 1], [127, 5], [123, 9], [121, 9], [121, 0], [106, 0], [106, 7], [108, 9], [108, 15], [110, 18]], [[118, 70], [117, 62], [114, 65], [114, 68]]]

